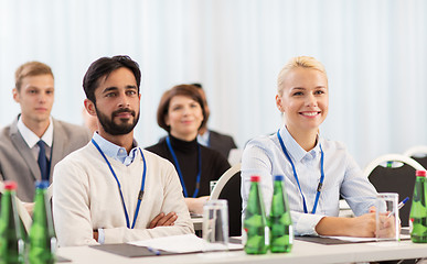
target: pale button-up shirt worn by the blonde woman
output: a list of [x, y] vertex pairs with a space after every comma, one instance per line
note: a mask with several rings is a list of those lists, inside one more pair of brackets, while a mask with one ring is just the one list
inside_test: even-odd
[[261, 177], [260, 186], [267, 215], [271, 205], [274, 176], [285, 176], [293, 228], [296, 234], [299, 235], [317, 235], [316, 226], [324, 216], [338, 217], [340, 195], [348, 201], [356, 216], [369, 212], [369, 208], [374, 206], [377, 194], [375, 188], [363, 176], [362, 170], [342, 143], [319, 136], [318, 144], [311, 151], [306, 152], [289, 134], [286, 127], [280, 129], [280, 135], [296, 166], [309, 212], [312, 211], [320, 180], [319, 143], [322, 146], [324, 153], [324, 182], [316, 215], [303, 212], [302, 196], [293, 176], [292, 167], [284, 154], [276, 133], [252, 140], [243, 152], [243, 212], [246, 209], [252, 175]]

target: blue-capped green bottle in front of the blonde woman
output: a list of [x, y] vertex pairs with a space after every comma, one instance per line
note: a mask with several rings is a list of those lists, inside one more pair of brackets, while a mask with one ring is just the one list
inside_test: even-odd
[[293, 229], [281, 175], [275, 176], [269, 228], [270, 251], [273, 253], [290, 252], [293, 243]]

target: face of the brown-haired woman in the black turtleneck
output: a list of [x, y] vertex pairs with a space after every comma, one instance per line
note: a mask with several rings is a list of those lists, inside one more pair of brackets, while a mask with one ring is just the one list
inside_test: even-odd
[[184, 141], [194, 140], [202, 121], [202, 107], [194, 99], [186, 96], [174, 96], [170, 100], [164, 122], [170, 125], [173, 136]]

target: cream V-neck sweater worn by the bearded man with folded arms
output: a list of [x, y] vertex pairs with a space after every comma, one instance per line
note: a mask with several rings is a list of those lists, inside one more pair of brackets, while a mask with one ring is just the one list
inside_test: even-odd
[[[73, 152], [55, 166], [53, 217], [61, 246], [97, 244], [93, 231], [99, 228], [104, 229], [105, 243], [194, 232], [173, 165], [148, 151], [142, 153], [147, 162], [147, 176], [135, 229], [126, 227], [117, 182], [92, 143]], [[142, 179], [141, 154], [138, 152], [129, 166], [107, 158], [120, 182], [131, 224]], [[178, 216], [174, 226], [147, 229], [159, 213], [171, 211]]]

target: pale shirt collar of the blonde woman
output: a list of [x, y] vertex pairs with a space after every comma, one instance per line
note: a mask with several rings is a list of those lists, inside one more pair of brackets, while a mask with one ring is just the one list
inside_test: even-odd
[[301, 162], [302, 158], [305, 158], [307, 155], [310, 155], [311, 158], [316, 157], [317, 155], [320, 155], [320, 136], [318, 135], [318, 141], [316, 143], [316, 146], [309, 151], [306, 152], [298, 142], [292, 138], [292, 135], [289, 133], [286, 125], [284, 125], [280, 129], [280, 135], [284, 140], [284, 144], [289, 153], [289, 155], [293, 158], [296, 162]]

